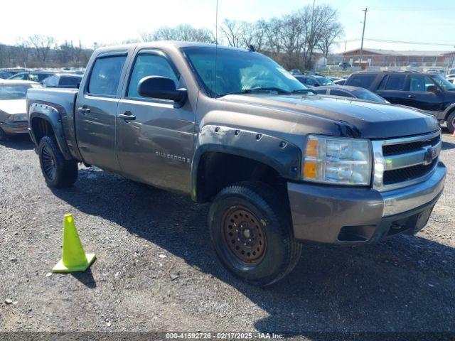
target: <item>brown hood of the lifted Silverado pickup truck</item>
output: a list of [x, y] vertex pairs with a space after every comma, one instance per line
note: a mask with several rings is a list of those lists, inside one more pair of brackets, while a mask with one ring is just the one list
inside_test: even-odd
[[[425, 134], [439, 129], [431, 114], [397, 107], [393, 104], [365, 102], [358, 99], [321, 97], [314, 95], [233, 94], [223, 99], [269, 109], [330, 119], [345, 126], [353, 137], [386, 139]], [[301, 121], [304, 124], [304, 121]]]

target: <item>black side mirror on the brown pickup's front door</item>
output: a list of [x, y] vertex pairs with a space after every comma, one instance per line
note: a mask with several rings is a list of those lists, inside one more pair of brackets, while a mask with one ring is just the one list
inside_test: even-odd
[[142, 97], [169, 99], [180, 105], [186, 99], [186, 89], [176, 89], [175, 83], [168, 77], [144, 77], [139, 81], [138, 92]]

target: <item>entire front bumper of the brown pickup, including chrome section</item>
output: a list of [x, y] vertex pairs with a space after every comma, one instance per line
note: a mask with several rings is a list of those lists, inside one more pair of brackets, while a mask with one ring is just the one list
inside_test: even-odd
[[446, 167], [398, 190], [288, 183], [294, 237], [303, 242], [358, 244], [415, 234], [427, 224], [444, 189]]

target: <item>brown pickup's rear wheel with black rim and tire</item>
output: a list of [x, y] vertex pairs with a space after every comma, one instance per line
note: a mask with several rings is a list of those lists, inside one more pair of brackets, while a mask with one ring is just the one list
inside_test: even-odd
[[44, 136], [38, 146], [41, 171], [50, 188], [67, 188], [77, 180], [77, 161], [65, 160], [55, 138]]

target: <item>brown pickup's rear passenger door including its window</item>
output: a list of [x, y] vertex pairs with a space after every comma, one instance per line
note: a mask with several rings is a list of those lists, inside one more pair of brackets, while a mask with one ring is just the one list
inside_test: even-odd
[[86, 163], [119, 171], [116, 114], [127, 51], [101, 53], [92, 63], [75, 105], [77, 144]]

